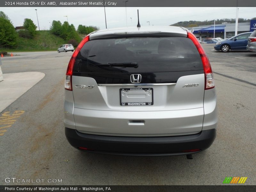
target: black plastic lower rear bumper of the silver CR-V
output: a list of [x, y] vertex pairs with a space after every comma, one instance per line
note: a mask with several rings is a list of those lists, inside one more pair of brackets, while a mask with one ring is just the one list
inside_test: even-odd
[[[65, 134], [73, 147], [82, 147], [88, 152], [133, 156], [169, 156], [187, 155], [209, 148], [216, 137], [216, 129], [184, 136], [121, 137], [85, 134], [66, 127]], [[191, 149], [199, 150], [188, 152]]]

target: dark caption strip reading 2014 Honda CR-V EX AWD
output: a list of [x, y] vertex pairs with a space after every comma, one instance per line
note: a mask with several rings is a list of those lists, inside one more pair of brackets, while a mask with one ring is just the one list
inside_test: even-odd
[[0, 7], [256, 7], [255, 0], [1, 0]]

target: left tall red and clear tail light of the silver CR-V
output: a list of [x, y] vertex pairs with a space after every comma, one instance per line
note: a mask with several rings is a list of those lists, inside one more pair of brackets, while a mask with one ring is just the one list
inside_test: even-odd
[[81, 43], [76, 47], [76, 50], [74, 51], [71, 59], [68, 63], [67, 73], [66, 73], [66, 79], [65, 79], [65, 89], [72, 91], [72, 75], [73, 75], [73, 67], [76, 61], [76, 56], [80, 52], [81, 48], [84, 46], [84, 44], [89, 41], [89, 36], [84, 37], [84, 39], [81, 41]]

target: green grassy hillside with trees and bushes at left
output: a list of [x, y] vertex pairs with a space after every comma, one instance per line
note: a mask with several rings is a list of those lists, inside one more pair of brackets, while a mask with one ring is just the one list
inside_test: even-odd
[[10, 18], [0, 11], [0, 52], [2, 51], [47, 51], [57, 50], [61, 44], [75, 47], [83, 37], [98, 30], [95, 26], [79, 25], [77, 30], [67, 21], [53, 20], [50, 30], [36, 30], [33, 20], [25, 18], [24, 29], [15, 30]]

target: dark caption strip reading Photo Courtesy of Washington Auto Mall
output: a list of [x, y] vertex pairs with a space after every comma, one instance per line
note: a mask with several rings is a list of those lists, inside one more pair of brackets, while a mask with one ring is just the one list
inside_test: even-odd
[[109, 192], [255, 192], [256, 186], [242, 186], [241, 184], [234, 185], [218, 185], [218, 186], [138, 186], [138, 185], [130, 185], [130, 186], [116, 186], [116, 185], [98, 185], [98, 186], [39, 186], [39, 185], [28, 185], [28, 186], [0, 186], [1, 192], [63, 192], [63, 191], [72, 191], [72, 192], [95, 192], [95, 191], [109, 191]]

